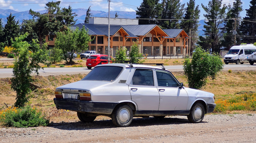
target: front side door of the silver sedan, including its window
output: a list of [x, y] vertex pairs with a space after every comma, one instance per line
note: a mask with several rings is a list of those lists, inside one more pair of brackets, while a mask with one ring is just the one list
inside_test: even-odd
[[186, 110], [188, 93], [168, 71], [155, 70], [160, 94], [159, 111]]

